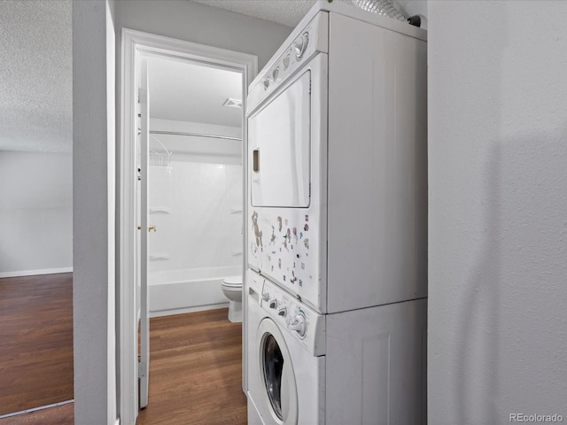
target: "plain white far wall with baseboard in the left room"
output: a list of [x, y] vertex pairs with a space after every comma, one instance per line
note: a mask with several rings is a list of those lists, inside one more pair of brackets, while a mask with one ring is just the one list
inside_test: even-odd
[[70, 153], [0, 151], [0, 277], [73, 267]]

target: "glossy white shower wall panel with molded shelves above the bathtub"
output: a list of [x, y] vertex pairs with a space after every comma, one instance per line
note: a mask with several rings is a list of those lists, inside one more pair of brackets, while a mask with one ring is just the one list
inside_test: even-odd
[[242, 166], [151, 166], [150, 271], [242, 262]]

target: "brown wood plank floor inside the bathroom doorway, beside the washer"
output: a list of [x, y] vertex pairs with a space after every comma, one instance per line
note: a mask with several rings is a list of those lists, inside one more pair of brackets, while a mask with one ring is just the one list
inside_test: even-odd
[[150, 322], [148, 406], [137, 425], [245, 425], [242, 326], [228, 310]]

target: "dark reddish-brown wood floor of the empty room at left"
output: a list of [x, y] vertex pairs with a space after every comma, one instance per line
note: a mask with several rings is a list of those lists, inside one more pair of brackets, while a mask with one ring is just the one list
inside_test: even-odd
[[73, 274], [0, 279], [0, 415], [73, 398]]

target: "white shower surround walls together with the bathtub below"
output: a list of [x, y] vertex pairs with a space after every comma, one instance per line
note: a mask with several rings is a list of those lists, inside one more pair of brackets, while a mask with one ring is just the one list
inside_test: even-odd
[[151, 316], [225, 306], [222, 279], [242, 273], [240, 158], [181, 158], [150, 167]]

